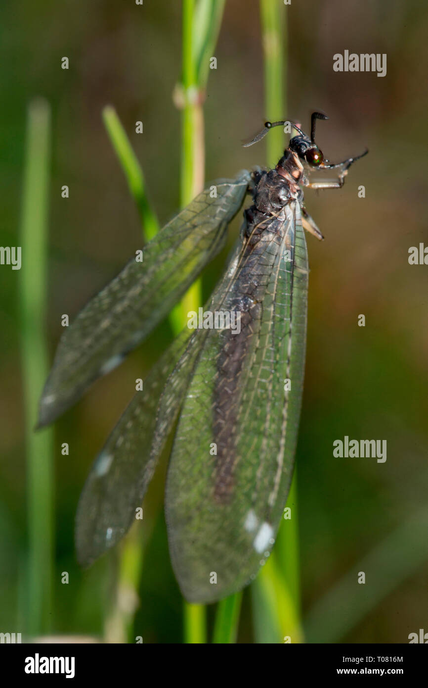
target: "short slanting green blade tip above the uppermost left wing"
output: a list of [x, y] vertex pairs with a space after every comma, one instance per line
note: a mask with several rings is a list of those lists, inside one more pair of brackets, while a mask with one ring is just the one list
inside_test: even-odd
[[114, 107], [111, 105], [104, 107], [102, 118], [113, 149], [124, 171], [131, 196], [137, 204], [142, 221], [143, 235], [147, 241], [150, 241], [159, 231], [159, 223], [147, 199], [142, 166], [138, 162], [131, 142], [128, 136], [126, 136], [126, 131], [122, 127], [122, 122], [120, 122]]

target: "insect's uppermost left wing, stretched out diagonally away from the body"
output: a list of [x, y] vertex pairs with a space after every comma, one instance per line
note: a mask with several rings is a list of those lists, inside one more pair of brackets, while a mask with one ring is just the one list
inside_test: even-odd
[[[171, 310], [221, 250], [243, 203], [249, 173], [218, 180], [178, 213], [65, 330], [39, 405], [38, 427], [60, 416], [122, 361]], [[216, 197], [213, 187], [216, 189]]]

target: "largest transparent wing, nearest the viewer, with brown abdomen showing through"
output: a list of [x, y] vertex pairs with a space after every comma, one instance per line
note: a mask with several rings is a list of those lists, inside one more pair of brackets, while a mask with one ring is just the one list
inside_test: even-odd
[[298, 204], [269, 223], [244, 238], [213, 294], [213, 310], [240, 312], [240, 332], [208, 330], [170, 458], [170, 553], [191, 602], [216, 601], [256, 576], [291, 482], [308, 262]]

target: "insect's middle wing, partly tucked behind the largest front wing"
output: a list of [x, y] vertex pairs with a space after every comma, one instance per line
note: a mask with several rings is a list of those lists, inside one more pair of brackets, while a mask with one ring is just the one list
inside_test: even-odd
[[204, 333], [197, 330], [190, 336], [186, 328], [161, 356], [93, 463], [76, 515], [76, 550], [82, 566], [113, 547], [131, 527], [177, 418], [201, 347], [199, 334]]

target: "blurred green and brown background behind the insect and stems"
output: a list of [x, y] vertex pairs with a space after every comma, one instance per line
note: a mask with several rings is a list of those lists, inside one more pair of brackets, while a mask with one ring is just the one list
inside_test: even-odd
[[[306, 640], [406, 643], [410, 632], [428, 630], [428, 267], [407, 260], [410, 246], [428, 245], [428, 10], [422, 0], [293, 0], [284, 11], [284, 118], [308, 129], [311, 111], [325, 111], [330, 121], [319, 122], [317, 142], [330, 160], [370, 149], [341, 191], [306, 191], [306, 206], [326, 237], [322, 243], [307, 237], [308, 348], [297, 447]], [[19, 245], [27, 105], [43, 96], [52, 106], [46, 327], [53, 355], [60, 315], [74, 317], [142, 244], [137, 209], [102, 124], [105, 105], [114, 105], [131, 138], [161, 224], [179, 206], [180, 115], [172, 92], [179, 79], [181, 7], [154, 0], [142, 7], [131, 0], [4, 2], [0, 45], [2, 246]], [[344, 50], [386, 53], [387, 75], [333, 72], [333, 54]], [[207, 180], [265, 162], [264, 142], [241, 146], [271, 118], [262, 105], [256, 1], [226, 3], [214, 54], [218, 64], [204, 108]], [[63, 56], [69, 57], [67, 71], [60, 68]], [[135, 133], [136, 120], [144, 122], [143, 135]], [[69, 199], [61, 198], [63, 184]], [[205, 271], [204, 297], [221, 274], [239, 224], [240, 217], [227, 249]], [[27, 624], [18, 282], [18, 271], [0, 266], [2, 632]], [[359, 314], [365, 314], [365, 327], [357, 325]], [[89, 571], [78, 568], [76, 504], [133, 381], [144, 377], [168, 341], [165, 323], [56, 424], [50, 616], [57, 634], [102, 634], [111, 565], [104, 559]], [[333, 441], [346, 435], [387, 440], [387, 461], [334, 458]], [[63, 442], [69, 456], [60, 453]], [[144, 643], [182, 638], [182, 599], [161, 510], [165, 470], [166, 462], [144, 504], [135, 617], [135, 634]], [[360, 570], [365, 585], [356, 583]], [[60, 581], [63, 571], [68, 585]], [[371, 594], [365, 608], [360, 596]], [[254, 641], [248, 591], [238, 641]]]

